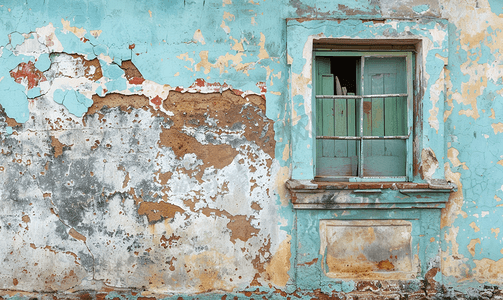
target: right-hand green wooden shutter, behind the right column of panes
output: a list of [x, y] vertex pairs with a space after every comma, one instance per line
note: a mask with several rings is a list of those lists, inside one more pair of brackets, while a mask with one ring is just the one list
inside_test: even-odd
[[[366, 95], [407, 93], [405, 57], [365, 59]], [[407, 133], [406, 97], [364, 100], [364, 135], [397, 136]], [[406, 141], [400, 139], [364, 140], [363, 176], [405, 176]]]

